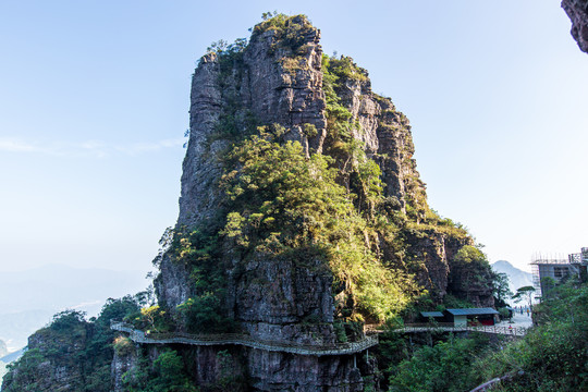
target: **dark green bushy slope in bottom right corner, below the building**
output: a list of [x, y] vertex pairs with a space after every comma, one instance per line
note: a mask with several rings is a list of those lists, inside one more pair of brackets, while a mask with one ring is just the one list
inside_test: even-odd
[[524, 340], [478, 366], [482, 379], [512, 373], [500, 391], [588, 390], [588, 284], [555, 286], [534, 309], [539, 323]]

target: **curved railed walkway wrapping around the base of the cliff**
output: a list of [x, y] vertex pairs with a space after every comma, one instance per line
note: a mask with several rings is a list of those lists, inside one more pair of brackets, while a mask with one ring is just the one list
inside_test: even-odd
[[142, 330], [135, 329], [130, 323], [118, 320], [111, 320], [110, 328], [115, 331], [128, 333], [128, 338], [133, 342], [142, 344], [191, 344], [200, 346], [234, 344], [270, 352], [283, 352], [315, 356], [356, 354], [378, 344], [377, 335], [365, 336], [360, 341], [353, 343], [336, 343], [332, 345], [305, 345], [289, 344], [283, 342], [258, 341], [241, 333], [146, 333]]

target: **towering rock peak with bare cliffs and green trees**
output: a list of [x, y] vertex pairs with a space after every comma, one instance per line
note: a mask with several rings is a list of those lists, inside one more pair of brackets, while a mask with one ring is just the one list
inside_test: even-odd
[[[155, 281], [180, 331], [320, 346], [452, 287], [492, 306], [483, 255], [461, 259], [475, 259], [475, 287], [453, 262], [473, 240], [429, 208], [407, 118], [319, 41], [306, 16], [277, 14], [194, 72], [180, 216]], [[280, 356], [286, 378], [298, 359]], [[355, 377], [333, 360], [313, 367]]]

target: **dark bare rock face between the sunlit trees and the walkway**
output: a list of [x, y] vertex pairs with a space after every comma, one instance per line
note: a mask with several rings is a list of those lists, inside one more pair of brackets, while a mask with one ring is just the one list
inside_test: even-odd
[[319, 259], [259, 255], [233, 271], [229, 284], [234, 318], [259, 340], [334, 343], [332, 277]]

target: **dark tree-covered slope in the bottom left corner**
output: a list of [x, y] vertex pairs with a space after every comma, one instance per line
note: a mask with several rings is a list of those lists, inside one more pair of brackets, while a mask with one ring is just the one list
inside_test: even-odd
[[53, 382], [58, 382], [53, 373], [57, 368], [68, 369], [61, 377], [71, 384], [69, 391], [110, 391], [115, 335], [110, 320], [137, 314], [139, 307], [136, 298], [127, 296], [109, 299], [100, 316], [89, 321], [75, 310], [57, 314], [48, 327], [33, 335], [33, 347], [9, 365], [3, 391], [53, 391]]

